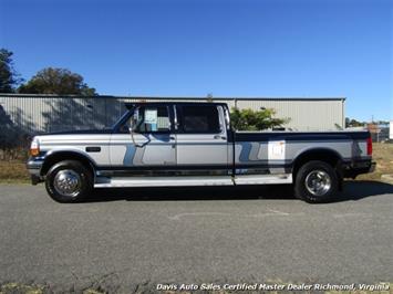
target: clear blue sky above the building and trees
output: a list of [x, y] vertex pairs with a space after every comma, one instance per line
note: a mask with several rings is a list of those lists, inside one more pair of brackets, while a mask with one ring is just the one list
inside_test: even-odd
[[106, 95], [347, 97], [393, 119], [393, 0], [0, 0], [25, 80], [65, 67]]

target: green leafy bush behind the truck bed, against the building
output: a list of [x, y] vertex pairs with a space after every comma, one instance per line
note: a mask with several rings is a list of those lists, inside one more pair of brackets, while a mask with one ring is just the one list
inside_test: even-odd
[[250, 108], [241, 109], [232, 107], [230, 119], [235, 129], [239, 130], [261, 130], [281, 126], [289, 122], [289, 118], [276, 118], [275, 109], [252, 111]]

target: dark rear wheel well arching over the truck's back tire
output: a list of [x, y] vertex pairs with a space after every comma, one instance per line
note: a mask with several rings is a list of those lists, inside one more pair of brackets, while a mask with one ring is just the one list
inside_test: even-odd
[[292, 167], [293, 177], [296, 177], [299, 168], [303, 166], [306, 162], [311, 160], [320, 160], [331, 165], [334, 169], [338, 164], [341, 161], [341, 157], [338, 153], [329, 149], [318, 149], [318, 150], [309, 150], [294, 159], [294, 164]]

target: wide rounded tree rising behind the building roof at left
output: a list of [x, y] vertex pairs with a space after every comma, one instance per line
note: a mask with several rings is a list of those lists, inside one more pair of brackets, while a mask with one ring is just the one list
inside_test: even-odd
[[65, 69], [46, 67], [39, 71], [27, 84], [21, 85], [19, 93], [59, 94], [59, 95], [97, 95], [95, 88], [83, 82], [83, 76]]

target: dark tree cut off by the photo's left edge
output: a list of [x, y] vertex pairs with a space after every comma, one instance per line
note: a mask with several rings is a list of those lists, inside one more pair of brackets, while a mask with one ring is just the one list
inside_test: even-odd
[[0, 49], [0, 93], [13, 93], [22, 80], [13, 69], [13, 53], [7, 49]]

